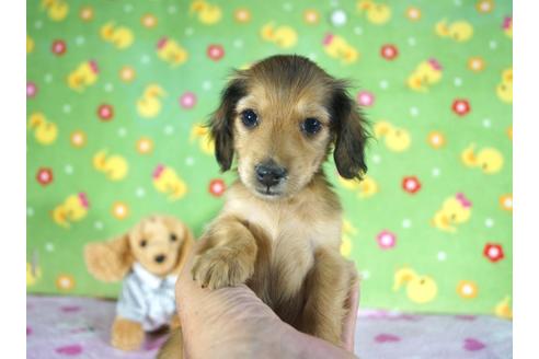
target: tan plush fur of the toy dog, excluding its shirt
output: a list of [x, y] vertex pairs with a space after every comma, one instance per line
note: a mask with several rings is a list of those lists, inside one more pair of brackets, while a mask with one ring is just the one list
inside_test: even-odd
[[[171, 234], [176, 235], [171, 241]], [[140, 245], [141, 241], [146, 245]], [[159, 277], [179, 274], [194, 245], [191, 230], [177, 219], [169, 216], [150, 216], [138, 222], [127, 233], [107, 242], [89, 243], [84, 247], [88, 271], [106, 282], [122, 280], [135, 262]], [[167, 259], [156, 263], [154, 256], [163, 254]], [[170, 323], [180, 327], [177, 315]], [[123, 350], [140, 347], [145, 333], [140, 323], [116, 316], [112, 326], [111, 344]]]

